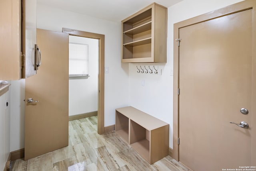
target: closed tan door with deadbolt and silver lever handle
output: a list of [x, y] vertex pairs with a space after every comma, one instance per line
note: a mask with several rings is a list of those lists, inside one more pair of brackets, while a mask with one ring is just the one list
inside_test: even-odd
[[[180, 28], [179, 159], [195, 171], [252, 166], [252, 16]], [[254, 68], [255, 69], [255, 68]], [[255, 104], [254, 104], [255, 105]], [[242, 114], [241, 108], [248, 109]], [[240, 128], [235, 122], [247, 122]]]

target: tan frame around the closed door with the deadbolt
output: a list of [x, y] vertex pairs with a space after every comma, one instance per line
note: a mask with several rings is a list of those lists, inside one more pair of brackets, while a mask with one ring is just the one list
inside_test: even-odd
[[[213, 12], [209, 12], [188, 20], [184, 20], [182, 22], [178, 22], [174, 24], [174, 77], [173, 77], [173, 155], [172, 157], [179, 161], [179, 145], [178, 145], [178, 137], [179, 137], [179, 96], [178, 96], [178, 87], [179, 87], [179, 47], [178, 42], [175, 40], [180, 38], [179, 29], [187, 26], [191, 26], [194, 24], [198, 24], [201, 22], [205, 22], [208, 20], [213, 20], [215, 18], [220, 18], [222, 16], [226, 16], [232, 13], [241, 12], [246, 9], [253, 10], [253, 37], [252, 37], [252, 65], [254, 69], [252, 70], [252, 104], [256, 104], [256, 1], [255, 0], [245, 0], [219, 10], [215, 10]], [[182, 40], [180, 41], [182, 43]], [[182, 90], [181, 90], [182, 93]], [[252, 105], [252, 124], [250, 128], [255, 133], [256, 132], [256, 106]], [[251, 149], [252, 149], [252, 161], [256, 161], [256, 145], [253, 145], [256, 142], [256, 135], [251, 135]]]

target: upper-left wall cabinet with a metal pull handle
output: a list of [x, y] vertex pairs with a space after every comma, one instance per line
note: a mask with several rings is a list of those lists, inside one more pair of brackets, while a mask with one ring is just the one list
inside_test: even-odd
[[35, 75], [41, 58], [36, 46], [36, 0], [1, 0], [0, 23], [0, 80]]

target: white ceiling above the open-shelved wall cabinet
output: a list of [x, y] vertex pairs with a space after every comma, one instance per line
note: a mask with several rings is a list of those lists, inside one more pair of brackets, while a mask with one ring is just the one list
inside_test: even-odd
[[120, 22], [152, 2], [169, 7], [181, 1], [182, 0], [37, 0], [37, 3], [104, 20]]

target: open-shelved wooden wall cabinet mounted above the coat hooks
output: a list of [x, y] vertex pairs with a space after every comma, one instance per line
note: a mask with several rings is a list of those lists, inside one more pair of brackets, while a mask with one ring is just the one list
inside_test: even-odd
[[166, 63], [167, 8], [153, 3], [122, 20], [123, 63]]

